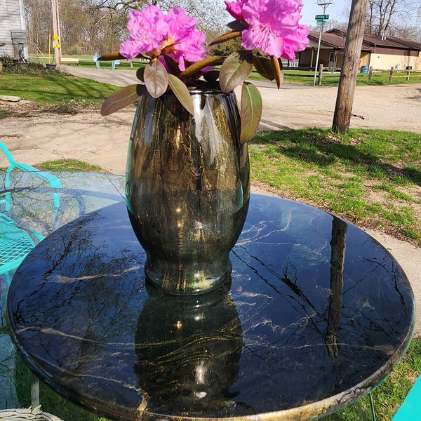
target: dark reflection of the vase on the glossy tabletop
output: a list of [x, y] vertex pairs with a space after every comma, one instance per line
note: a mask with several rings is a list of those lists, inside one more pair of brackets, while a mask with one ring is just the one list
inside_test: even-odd
[[219, 288], [174, 297], [149, 288], [135, 330], [134, 370], [145, 412], [225, 413], [237, 380], [243, 334], [236, 305]]

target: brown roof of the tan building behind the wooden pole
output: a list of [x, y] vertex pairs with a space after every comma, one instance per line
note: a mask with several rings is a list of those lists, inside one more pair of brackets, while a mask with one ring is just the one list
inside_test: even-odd
[[[345, 48], [346, 32], [342, 29], [329, 29], [321, 34], [323, 44], [333, 48]], [[319, 40], [319, 32], [311, 31], [309, 38]], [[396, 38], [396, 36], [385, 36], [375, 34], [364, 34], [362, 51], [373, 51], [376, 46], [385, 48], [401, 48], [403, 50], [421, 51], [421, 44], [410, 39]]]

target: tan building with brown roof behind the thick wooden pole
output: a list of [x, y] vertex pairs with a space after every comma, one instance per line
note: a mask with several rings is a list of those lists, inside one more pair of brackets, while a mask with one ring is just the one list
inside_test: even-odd
[[[319, 65], [330, 69], [342, 67], [347, 33], [342, 29], [330, 29], [321, 34]], [[299, 66], [314, 68], [316, 65], [319, 32], [309, 33], [309, 46], [300, 53]], [[396, 36], [364, 34], [361, 46], [360, 67], [373, 70], [406, 69], [421, 72], [421, 44]]]

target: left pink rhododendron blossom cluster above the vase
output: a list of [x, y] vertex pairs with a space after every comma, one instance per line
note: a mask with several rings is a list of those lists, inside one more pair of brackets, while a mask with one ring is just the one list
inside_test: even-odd
[[153, 5], [131, 11], [127, 25], [130, 37], [121, 44], [120, 53], [126, 58], [135, 58], [140, 53], [156, 58], [163, 53], [184, 70], [185, 60], [194, 62], [206, 57], [203, 47], [206, 36], [196, 29], [196, 24], [196, 19], [181, 8], [171, 8], [167, 15]]

